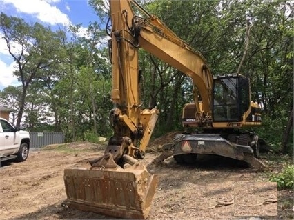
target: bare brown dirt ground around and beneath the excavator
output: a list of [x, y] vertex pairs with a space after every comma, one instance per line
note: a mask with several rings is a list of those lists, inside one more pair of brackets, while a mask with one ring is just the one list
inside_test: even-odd
[[[293, 219], [293, 191], [277, 191], [266, 172], [220, 157], [200, 157], [193, 166], [170, 157], [153, 166], [162, 141], [154, 141], [142, 161], [159, 178], [148, 219]], [[0, 219], [114, 219], [64, 203], [63, 170], [88, 167], [104, 148], [87, 142], [48, 146], [32, 150], [23, 163], [1, 163]], [[281, 170], [265, 157], [263, 162]]]

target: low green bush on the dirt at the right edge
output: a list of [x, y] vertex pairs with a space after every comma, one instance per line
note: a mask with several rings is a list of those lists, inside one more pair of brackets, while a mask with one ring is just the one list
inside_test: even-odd
[[292, 189], [294, 186], [294, 165], [287, 166], [279, 174], [273, 174], [270, 181], [277, 182], [278, 190]]

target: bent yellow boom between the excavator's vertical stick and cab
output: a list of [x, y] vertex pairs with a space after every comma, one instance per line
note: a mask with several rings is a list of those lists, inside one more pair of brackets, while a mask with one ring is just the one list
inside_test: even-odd
[[[213, 77], [206, 60], [178, 39], [157, 17], [151, 16], [149, 19], [150, 22], [147, 22], [138, 18], [135, 23], [135, 32], [139, 33], [139, 46], [192, 79], [197, 109], [195, 117], [200, 121], [203, 113], [208, 115], [211, 112]], [[199, 106], [198, 96], [202, 99], [202, 108]]]

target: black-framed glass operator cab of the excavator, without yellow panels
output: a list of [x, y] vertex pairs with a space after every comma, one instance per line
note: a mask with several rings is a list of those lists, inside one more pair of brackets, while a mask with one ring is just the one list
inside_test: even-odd
[[213, 80], [213, 121], [242, 121], [249, 105], [248, 78], [238, 75]]

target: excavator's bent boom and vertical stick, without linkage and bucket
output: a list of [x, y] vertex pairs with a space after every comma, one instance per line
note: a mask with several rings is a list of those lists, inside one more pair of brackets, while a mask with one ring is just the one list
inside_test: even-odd
[[[132, 6], [143, 12], [145, 17], [135, 16]], [[142, 48], [193, 80], [193, 97], [197, 110], [195, 118], [199, 123], [202, 123], [204, 117], [211, 121], [209, 116], [213, 77], [204, 57], [179, 39], [157, 17], [141, 8], [136, 1], [110, 1], [110, 12], [113, 103], [128, 103], [128, 118], [139, 123], [139, 112], [131, 108], [139, 106], [140, 102], [138, 49]]]

